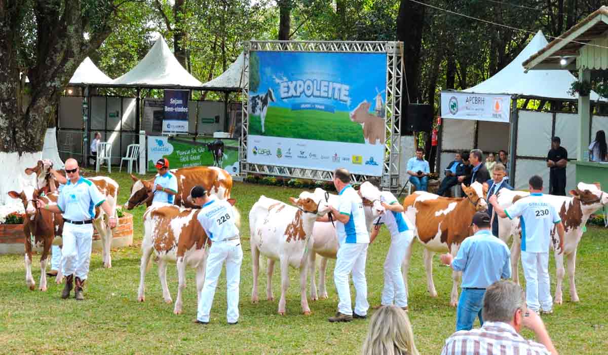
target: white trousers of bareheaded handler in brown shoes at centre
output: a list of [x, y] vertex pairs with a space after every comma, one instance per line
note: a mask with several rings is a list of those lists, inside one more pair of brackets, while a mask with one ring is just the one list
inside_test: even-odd
[[350, 285], [348, 274], [353, 273], [353, 284], [356, 290], [354, 312], [367, 315], [370, 304], [367, 303], [367, 281], [365, 280], [365, 260], [367, 259], [368, 243], [342, 243], [338, 248], [334, 283], [338, 293], [338, 312], [353, 315], [350, 300]]

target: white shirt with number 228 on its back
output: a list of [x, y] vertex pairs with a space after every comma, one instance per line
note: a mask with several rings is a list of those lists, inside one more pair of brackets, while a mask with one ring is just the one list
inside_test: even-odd
[[221, 242], [238, 236], [234, 210], [226, 200], [213, 199], [205, 203], [201, 206], [201, 211], [196, 219], [201, 223], [202, 229], [205, 230], [205, 233], [213, 242]]

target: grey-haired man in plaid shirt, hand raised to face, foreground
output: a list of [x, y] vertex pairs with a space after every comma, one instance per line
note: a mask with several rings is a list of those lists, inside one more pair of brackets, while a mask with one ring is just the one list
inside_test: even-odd
[[[441, 355], [557, 355], [541, 317], [526, 308], [525, 295], [513, 281], [497, 281], [483, 297], [483, 326], [457, 331], [447, 338]], [[518, 334], [522, 326], [537, 342]]]

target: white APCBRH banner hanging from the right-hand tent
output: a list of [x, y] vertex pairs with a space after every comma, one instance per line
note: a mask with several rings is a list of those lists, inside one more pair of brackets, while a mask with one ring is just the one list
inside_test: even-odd
[[511, 96], [441, 92], [441, 117], [477, 121], [510, 121]]

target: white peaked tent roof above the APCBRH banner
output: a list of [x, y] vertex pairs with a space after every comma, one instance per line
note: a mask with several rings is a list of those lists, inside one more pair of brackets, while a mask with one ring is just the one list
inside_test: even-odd
[[[547, 46], [547, 39], [542, 31], [538, 31], [530, 43], [521, 51], [513, 62], [494, 74], [488, 80], [468, 88], [466, 93], [478, 94], [511, 94], [522, 96], [545, 97], [547, 99], [578, 99], [578, 95], [567, 93], [570, 84], [576, 77], [566, 69], [558, 70], [532, 70], [525, 72], [522, 64], [531, 55]], [[591, 92], [593, 101], [599, 100], [598, 94]]]

